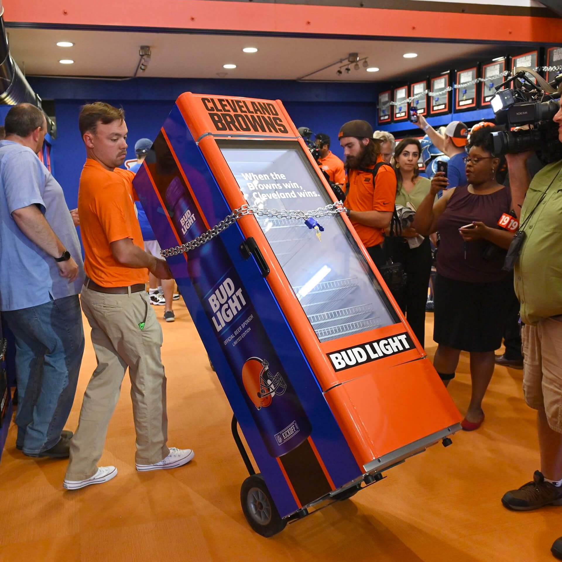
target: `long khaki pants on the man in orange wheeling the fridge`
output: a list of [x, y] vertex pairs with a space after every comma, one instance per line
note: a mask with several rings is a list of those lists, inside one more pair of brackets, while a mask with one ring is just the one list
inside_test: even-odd
[[158, 463], [169, 453], [166, 375], [160, 357], [162, 328], [148, 294], [105, 294], [84, 286], [80, 301], [92, 328], [98, 366], [84, 394], [66, 479], [84, 480], [96, 473], [127, 367], [137, 433], [135, 461]]

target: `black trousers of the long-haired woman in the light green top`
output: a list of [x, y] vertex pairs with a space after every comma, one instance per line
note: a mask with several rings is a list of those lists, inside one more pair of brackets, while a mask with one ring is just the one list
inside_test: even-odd
[[405, 238], [388, 237], [387, 248], [393, 262], [404, 267], [407, 275], [406, 287], [394, 294], [400, 310], [406, 315], [416, 338], [425, 346], [425, 305], [431, 274], [431, 246], [429, 238], [417, 248], [410, 248]]

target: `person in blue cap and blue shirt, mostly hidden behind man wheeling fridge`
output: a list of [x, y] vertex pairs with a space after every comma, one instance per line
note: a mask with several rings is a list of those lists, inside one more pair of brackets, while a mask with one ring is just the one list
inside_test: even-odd
[[[152, 140], [150, 139], [139, 139], [135, 142], [137, 162], [129, 168], [130, 171], [135, 174], [137, 173], [151, 147]], [[142, 205], [140, 205], [138, 201], [135, 201], [135, 207], [137, 207], [140, 232], [142, 233], [142, 238], [144, 240], [144, 250], [155, 257], [161, 257], [160, 244], [158, 244], [158, 241], [156, 240], [156, 235], [152, 231], [152, 227], [148, 222]], [[175, 320], [175, 315], [172, 310], [172, 303], [179, 298], [179, 294], [174, 293], [174, 279], [156, 279], [156, 277], [154, 277], [151, 273], [149, 275], [148, 284], [150, 287], [148, 291], [150, 302], [153, 305], [164, 306], [164, 320], [166, 320], [166, 322], [173, 322]]]

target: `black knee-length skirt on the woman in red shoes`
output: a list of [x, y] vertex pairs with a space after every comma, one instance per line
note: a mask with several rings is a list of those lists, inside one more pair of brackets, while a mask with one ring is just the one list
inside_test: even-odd
[[463, 351], [497, 350], [512, 294], [511, 274], [492, 283], [468, 283], [437, 274], [434, 341]]

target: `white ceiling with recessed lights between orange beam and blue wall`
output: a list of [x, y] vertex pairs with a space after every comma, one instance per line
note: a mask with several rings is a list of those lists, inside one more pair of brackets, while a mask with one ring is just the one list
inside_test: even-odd
[[[128, 33], [124, 31], [78, 31], [52, 29], [8, 29], [10, 51], [26, 75], [131, 76], [139, 60], [141, 45], [149, 45], [152, 59], [142, 74], [167, 78], [225, 78], [294, 80], [320, 69], [350, 52], [368, 56], [379, 72], [351, 70], [336, 74], [337, 66], [309, 76], [309, 80], [382, 81], [422, 70], [446, 70], [453, 61], [478, 56], [497, 56], [505, 47], [473, 43], [398, 42], [352, 39], [247, 37], [241, 35], [197, 35], [172, 33]], [[74, 47], [57, 47], [57, 41]], [[243, 47], [257, 47], [255, 54]], [[404, 53], [417, 58], [405, 59]], [[62, 58], [74, 60], [62, 65]], [[235, 70], [224, 70], [224, 64]]]

